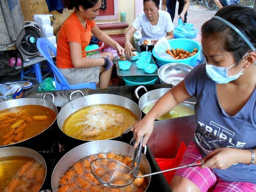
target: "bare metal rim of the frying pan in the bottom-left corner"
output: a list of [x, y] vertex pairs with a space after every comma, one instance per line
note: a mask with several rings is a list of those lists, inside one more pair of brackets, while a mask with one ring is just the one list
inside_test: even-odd
[[[8, 156], [31, 157], [31, 158], [37, 160], [41, 165], [43, 165], [46, 168], [46, 162], [44, 161], [44, 158], [39, 153], [37, 153], [37, 151], [34, 151], [34, 150], [26, 148], [26, 147], [3, 147], [3, 148], [0, 148], [0, 158], [8, 157]], [[0, 166], [0, 168], [1, 168], [1, 166]], [[0, 174], [0, 180], [2, 180], [1, 176], [5, 177], [5, 175]], [[45, 171], [44, 181], [45, 181], [45, 178], [46, 178], [46, 171]], [[44, 183], [44, 181], [43, 181], [43, 183]], [[40, 188], [43, 186], [43, 183], [41, 183]]]

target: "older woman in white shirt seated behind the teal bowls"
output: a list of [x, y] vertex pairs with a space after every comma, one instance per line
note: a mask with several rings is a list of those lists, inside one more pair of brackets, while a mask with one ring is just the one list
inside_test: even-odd
[[136, 30], [141, 27], [142, 39], [150, 39], [153, 42], [165, 36], [173, 38], [174, 25], [171, 16], [166, 11], [159, 10], [160, 0], [143, 0], [143, 12], [133, 21], [132, 26], [125, 34], [125, 54], [130, 57], [135, 50], [130, 40]]

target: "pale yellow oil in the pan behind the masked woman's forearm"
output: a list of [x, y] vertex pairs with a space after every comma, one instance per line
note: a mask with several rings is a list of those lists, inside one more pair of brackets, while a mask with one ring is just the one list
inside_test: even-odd
[[[146, 107], [142, 109], [143, 113], [147, 114], [154, 105], [155, 103], [148, 104]], [[157, 119], [158, 120], [173, 119], [173, 118], [189, 116], [189, 115], [195, 115], [194, 109], [184, 103], [180, 103], [174, 108], [172, 108], [171, 111], [165, 113], [164, 115], [160, 116]]]

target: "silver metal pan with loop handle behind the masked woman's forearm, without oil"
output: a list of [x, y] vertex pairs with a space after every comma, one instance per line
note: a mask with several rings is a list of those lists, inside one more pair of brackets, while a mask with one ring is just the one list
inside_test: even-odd
[[[139, 94], [138, 94], [140, 89], [144, 89], [146, 92], [145, 94], [142, 95], [142, 97], [139, 97]], [[158, 101], [158, 99], [160, 99], [160, 97], [162, 97], [170, 89], [171, 88], [160, 88], [160, 89], [154, 89], [154, 90], [148, 92], [148, 90], [143, 85], [137, 87], [134, 91], [134, 94], [135, 94], [136, 98], [139, 100], [140, 110], [144, 109], [149, 104], [156, 103]], [[194, 106], [195, 106], [195, 102], [190, 101], [190, 99], [183, 101], [183, 104], [191, 107], [192, 109], [194, 109]]]

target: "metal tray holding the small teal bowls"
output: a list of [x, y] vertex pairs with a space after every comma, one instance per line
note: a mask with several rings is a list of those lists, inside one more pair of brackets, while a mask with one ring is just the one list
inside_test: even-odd
[[[151, 57], [150, 63], [155, 64], [154, 59]], [[137, 68], [136, 60], [131, 61], [131, 68], [128, 70], [121, 70], [118, 66], [118, 61], [116, 62], [116, 72], [119, 77], [124, 76], [157, 76], [158, 67], [154, 73], [146, 73], [143, 69]]]

